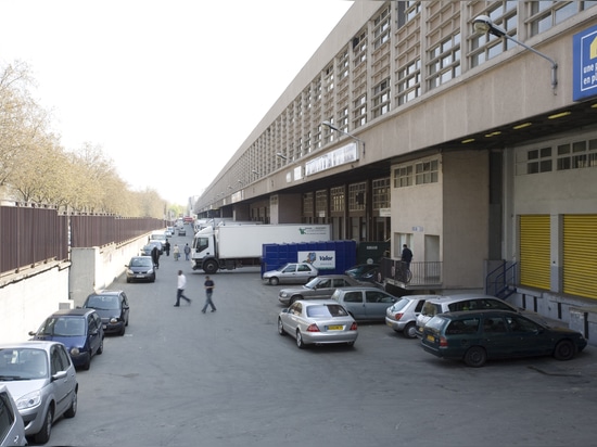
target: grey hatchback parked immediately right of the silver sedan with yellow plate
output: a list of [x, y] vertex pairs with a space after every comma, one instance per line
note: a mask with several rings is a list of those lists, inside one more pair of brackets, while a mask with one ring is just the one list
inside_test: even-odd
[[372, 285], [336, 289], [331, 299], [348, 310], [355, 320], [383, 321], [396, 297]]

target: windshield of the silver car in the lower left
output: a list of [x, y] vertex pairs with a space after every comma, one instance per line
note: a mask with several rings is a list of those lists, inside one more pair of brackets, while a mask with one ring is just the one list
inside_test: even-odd
[[33, 348], [0, 349], [0, 380], [42, 379], [48, 375], [46, 352]]

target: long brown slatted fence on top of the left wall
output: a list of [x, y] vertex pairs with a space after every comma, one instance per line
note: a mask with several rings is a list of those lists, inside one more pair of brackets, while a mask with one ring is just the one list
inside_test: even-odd
[[60, 215], [56, 209], [0, 206], [0, 273], [67, 260], [71, 247], [123, 243], [165, 227], [153, 218]]

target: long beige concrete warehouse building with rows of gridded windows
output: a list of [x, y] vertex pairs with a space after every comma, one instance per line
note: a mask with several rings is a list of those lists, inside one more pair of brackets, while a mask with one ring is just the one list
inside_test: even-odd
[[355, 2], [194, 212], [407, 244], [406, 292], [501, 284], [586, 327], [597, 1]]

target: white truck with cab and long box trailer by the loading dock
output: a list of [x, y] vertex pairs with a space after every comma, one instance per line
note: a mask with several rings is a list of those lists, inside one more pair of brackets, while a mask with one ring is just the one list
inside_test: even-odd
[[329, 225], [241, 225], [206, 227], [195, 233], [191, 250], [193, 270], [207, 274], [261, 265], [263, 244], [331, 240]]

